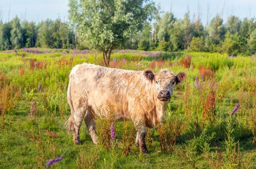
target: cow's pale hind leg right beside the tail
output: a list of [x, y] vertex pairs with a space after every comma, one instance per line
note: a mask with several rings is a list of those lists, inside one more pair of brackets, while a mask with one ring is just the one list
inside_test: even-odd
[[86, 108], [84, 106], [75, 108], [74, 112], [74, 129], [73, 132], [73, 143], [74, 144], [81, 144], [80, 137], [79, 137], [79, 131], [82, 124], [82, 121], [84, 119], [84, 115], [86, 113]]

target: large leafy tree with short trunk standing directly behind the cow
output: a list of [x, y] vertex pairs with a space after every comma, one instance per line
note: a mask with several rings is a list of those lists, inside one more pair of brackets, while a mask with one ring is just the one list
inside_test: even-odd
[[100, 50], [106, 66], [112, 50], [142, 30], [155, 9], [149, 0], [69, 0], [68, 6], [81, 42]]

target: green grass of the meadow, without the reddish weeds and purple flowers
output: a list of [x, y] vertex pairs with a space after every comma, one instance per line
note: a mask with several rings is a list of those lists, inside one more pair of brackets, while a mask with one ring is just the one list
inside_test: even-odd
[[[39, 49], [47, 51], [47, 49]], [[89, 54], [63, 55], [62, 50], [49, 50], [51, 53], [32, 54], [18, 50], [17, 53], [0, 53], [0, 74], [5, 73], [8, 83], [16, 88], [21, 88], [21, 97], [14, 100], [15, 108], [1, 114], [0, 126], [0, 168], [44, 168], [45, 163], [52, 158], [61, 156], [68, 149], [62, 161], [54, 164], [55, 168], [79, 168], [77, 158], [81, 154], [91, 159], [94, 154], [99, 154], [93, 162], [95, 168], [213, 168], [209, 160], [215, 160], [214, 154], [217, 149], [223, 153], [223, 168], [228, 164], [244, 162], [242, 168], [256, 168], [256, 148], [252, 144], [253, 129], [256, 124], [249, 123], [250, 112], [256, 113], [256, 59], [251, 56], [238, 56], [228, 58], [219, 53], [161, 53], [152, 58], [146, 56], [144, 51], [128, 51], [127, 53], [113, 53], [111, 61], [118, 60], [116, 67], [132, 70], [152, 69], [154, 72], [161, 68], [169, 68], [174, 73], [180, 71], [187, 73], [184, 83], [175, 87], [175, 93], [165, 113], [166, 119], [179, 117], [183, 121], [182, 131], [177, 138], [174, 151], [163, 153], [159, 146], [159, 135], [154, 134], [153, 143], [147, 144], [149, 154], [141, 154], [135, 144], [128, 156], [122, 154], [122, 130], [123, 123], [119, 122], [116, 127], [118, 147], [107, 151], [102, 146], [95, 146], [85, 125], [81, 127], [81, 145], [73, 145], [72, 136], [68, 135], [63, 127], [65, 120], [70, 116], [70, 108], [66, 101], [68, 86], [68, 74], [76, 64], [87, 62], [103, 65], [102, 55], [97, 54], [96, 60], [93, 52]], [[181, 57], [192, 56], [190, 68], [184, 68], [180, 64]], [[73, 60], [71, 60], [71, 58]], [[123, 61], [125, 58], [125, 61]], [[162, 59], [161, 59], [162, 58]], [[35, 63], [42, 62], [43, 68], [30, 69], [29, 59], [35, 59]], [[155, 62], [155, 64], [153, 64]], [[47, 63], [47, 64], [46, 64]], [[110, 65], [115, 65], [110, 63]], [[154, 66], [155, 65], [155, 66]], [[203, 120], [202, 112], [196, 107], [200, 104], [199, 95], [196, 93], [195, 78], [201, 79], [200, 66], [214, 71], [214, 77], [209, 81], [215, 81], [217, 89], [215, 93], [216, 108], [214, 120]], [[24, 68], [24, 74], [20, 73]], [[1, 80], [1, 79], [0, 79]], [[204, 80], [205, 83], [207, 80]], [[41, 83], [42, 93], [39, 93], [38, 84]], [[0, 89], [2, 89], [0, 83]], [[188, 89], [189, 88], [189, 89]], [[33, 90], [33, 91], [32, 91]], [[188, 101], [185, 102], [185, 91], [188, 91]], [[203, 92], [207, 92], [204, 90]], [[207, 93], [206, 93], [207, 94]], [[37, 114], [29, 117], [31, 102], [37, 103]], [[3, 102], [0, 102], [3, 103]], [[239, 103], [240, 108], [234, 116], [230, 112]], [[189, 114], [186, 114], [188, 104]], [[202, 108], [202, 107], [201, 107]], [[3, 121], [3, 117], [5, 121]], [[227, 120], [232, 119], [231, 136], [236, 145], [240, 144], [241, 157], [234, 161], [228, 161], [225, 149], [225, 133]], [[202, 131], [207, 129], [205, 136], [215, 133], [214, 138], [207, 141]], [[52, 131], [56, 137], [50, 137], [46, 132]], [[152, 130], [152, 129], [151, 129]], [[209, 150], [206, 151], [207, 145]], [[216, 148], [217, 147], [217, 148]], [[187, 157], [182, 155], [185, 150]], [[205, 154], [212, 154], [207, 159]], [[195, 160], [193, 166], [189, 158]], [[216, 160], [217, 161], [217, 160]], [[87, 161], [88, 163], [88, 161]], [[191, 166], [192, 165], [192, 166]], [[239, 168], [232, 165], [231, 168]]]

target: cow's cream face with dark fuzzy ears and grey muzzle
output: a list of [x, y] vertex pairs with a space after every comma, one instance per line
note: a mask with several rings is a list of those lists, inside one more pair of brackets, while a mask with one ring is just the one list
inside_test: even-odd
[[157, 98], [163, 102], [166, 102], [171, 98], [174, 85], [180, 83], [186, 77], [184, 72], [180, 72], [176, 76], [168, 69], [161, 69], [155, 74], [152, 73], [152, 71], [145, 71], [144, 75], [147, 76], [149, 80], [152, 80], [152, 83], [154, 83], [155, 86], [155, 91], [157, 92]]

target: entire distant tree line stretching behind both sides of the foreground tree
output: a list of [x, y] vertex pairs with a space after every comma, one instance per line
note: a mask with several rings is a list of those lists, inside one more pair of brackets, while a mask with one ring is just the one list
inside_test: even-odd
[[[189, 12], [183, 19], [178, 19], [173, 13], [167, 12], [160, 17], [155, 8], [147, 10], [149, 9], [154, 10], [154, 21], [144, 22], [137, 33], [132, 37], [124, 37], [122, 40], [125, 43], [116, 45], [115, 48], [222, 52], [229, 55], [249, 55], [256, 52], [255, 18], [241, 20], [231, 15], [224, 24], [222, 17], [217, 14], [204, 26], [200, 17], [191, 20]], [[60, 19], [47, 19], [36, 24], [27, 20], [21, 22], [16, 16], [10, 22], [0, 22], [0, 50], [24, 47], [91, 48], [82, 43], [81, 33], [76, 33], [75, 30], [78, 29]]]

